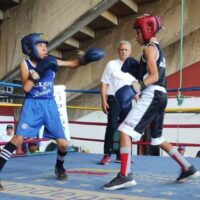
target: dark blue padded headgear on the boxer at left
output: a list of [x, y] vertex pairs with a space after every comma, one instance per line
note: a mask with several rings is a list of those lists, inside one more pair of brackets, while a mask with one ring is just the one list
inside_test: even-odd
[[48, 44], [47, 36], [43, 33], [32, 33], [22, 38], [21, 45], [24, 54], [35, 60], [40, 60], [36, 45], [38, 43]]

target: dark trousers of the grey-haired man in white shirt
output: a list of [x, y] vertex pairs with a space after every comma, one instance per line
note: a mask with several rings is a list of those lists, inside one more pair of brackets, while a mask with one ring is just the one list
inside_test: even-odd
[[[120, 105], [114, 96], [109, 95], [107, 99], [109, 105], [108, 116], [107, 116], [107, 127], [104, 140], [104, 154], [111, 154], [113, 152], [113, 136], [118, 128], [119, 123], [121, 123], [128, 112], [131, 110], [132, 106], [126, 111], [121, 111]], [[115, 150], [116, 154], [119, 154], [119, 149]]]

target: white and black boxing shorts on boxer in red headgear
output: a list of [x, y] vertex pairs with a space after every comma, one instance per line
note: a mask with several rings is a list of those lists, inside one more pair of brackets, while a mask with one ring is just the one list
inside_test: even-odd
[[166, 106], [165, 88], [151, 85], [142, 92], [141, 98], [118, 130], [139, 141], [144, 130], [150, 125], [151, 144], [159, 145], [164, 141], [162, 129]]

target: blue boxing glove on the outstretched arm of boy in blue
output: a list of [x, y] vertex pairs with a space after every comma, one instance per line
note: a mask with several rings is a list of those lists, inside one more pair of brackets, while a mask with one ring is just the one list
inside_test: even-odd
[[81, 65], [87, 65], [88, 63], [101, 60], [105, 53], [101, 48], [90, 48], [86, 53], [79, 58]]

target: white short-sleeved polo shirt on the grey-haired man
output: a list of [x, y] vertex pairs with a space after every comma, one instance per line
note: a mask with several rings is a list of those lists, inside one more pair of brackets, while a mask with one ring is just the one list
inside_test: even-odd
[[101, 82], [108, 85], [107, 95], [115, 95], [115, 92], [124, 85], [131, 85], [135, 79], [128, 72], [122, 72], [123, 61], [111, 60], [107, 63]]

